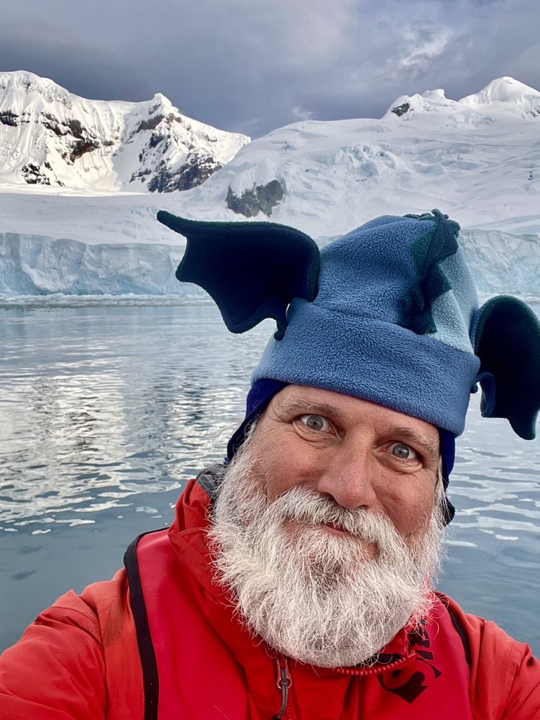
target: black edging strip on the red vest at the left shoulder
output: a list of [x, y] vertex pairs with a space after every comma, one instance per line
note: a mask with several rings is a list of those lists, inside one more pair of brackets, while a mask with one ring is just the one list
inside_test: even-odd
[[[166, 528], [161, 528], [166, 529]], [[160, 532], [155, 530], [153, 532]], [[139, 540], [149, 533], [143, 533], [135, 538], [127, 548], [124, 555], [124, 565], [127, 571], [127, 580], [130, 584], [131, 609], [137, 631], [140, 663], [143, 667], [143, 684], [145, 698], [144, 720], [158, 719], [159, 678], [156, 653], [148, 624], [148, 613], [143, 595], [143, 585], [140, 580], [139, 564], [137, 560], [137, 545]]]

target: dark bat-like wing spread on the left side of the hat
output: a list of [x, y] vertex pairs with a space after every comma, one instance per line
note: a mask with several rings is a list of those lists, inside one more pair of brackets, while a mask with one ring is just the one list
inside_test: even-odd
[[274, 222], [186, 220], [163, 210], [158, 220], [187, 240], [177, 279], [204, 288], [233, 333], [274, 318], [279, 338], [292, 298], [317, 295], [319, 248], [300, 230]]

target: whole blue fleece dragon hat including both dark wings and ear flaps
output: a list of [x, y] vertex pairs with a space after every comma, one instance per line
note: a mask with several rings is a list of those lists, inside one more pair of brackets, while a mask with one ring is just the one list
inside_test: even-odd
[[274, 318], [253, 372], [243, 440], [286, 384], [335, 390], [437, 426], [448, 472], [469, 394], [482, 414], [534, 438], [540, 408], [540, 323], [513, 297], [478, 307], [459, 225], [438, 210], [378, 217], [319, 251], [270, 222], [199, 222], [159, 212], [187, 238], [176, 277], [209, 292], [233, 332]]

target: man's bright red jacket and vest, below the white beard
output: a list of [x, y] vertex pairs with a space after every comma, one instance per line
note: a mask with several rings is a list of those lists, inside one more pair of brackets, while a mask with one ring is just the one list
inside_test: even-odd
[[[110, 582], [90, 585], [81, 596], [63, 595], [0, 659], [1, 720], [276, 716], [282, 706], [279, 658], [248, 634], [225, 591], [212, 582], [204, 533], [207, 506], [204, 490], [190, 483], [168, 543], [163, 534], [143, 540], [138, 566], [148, 634], [140, 621], [136, 627], [125, 570]], [[140, 613], [136, 594], [133, 607]], [[145, 659], [155, 653], [158, 677], [145, 660], [143, 678], [140, 649]], [[284, 717], [540, 717], [540, 663], [528, 646], [495, 624], [466, 615], [444, 596], [425, 632], [402, 631], [383, 655], [388, 665], [367, 670], [324, 670], [289, 660], [292, 685]], [[156, 707], [151, 698], [157, 697], [157, 682]]]

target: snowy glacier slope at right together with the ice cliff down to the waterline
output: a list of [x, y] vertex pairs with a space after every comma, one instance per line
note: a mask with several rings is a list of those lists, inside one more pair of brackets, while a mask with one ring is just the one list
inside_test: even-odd
[[4, 185], [0, 294], [191, 292], [163, 279], [160, 253], [172, 269], [183, 240], [154, 220], [160, 208], [283, 222], [323, 245], [377, 215], [438, 207], [462, 225], [480, 292], [540, 297], [540, 92], [513, 78], [458, 101], [441, 89], [401, 96], [380, 120], [280, 128], [186, 192], [89, 186]]

